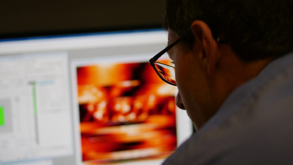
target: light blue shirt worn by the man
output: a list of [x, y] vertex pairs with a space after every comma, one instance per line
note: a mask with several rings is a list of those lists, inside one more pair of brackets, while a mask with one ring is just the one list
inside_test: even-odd
[[169, 164], [293, 164], [293, 53], [234, 90]]

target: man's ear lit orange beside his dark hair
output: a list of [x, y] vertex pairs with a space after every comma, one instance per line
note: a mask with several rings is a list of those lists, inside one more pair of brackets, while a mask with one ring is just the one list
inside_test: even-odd
[[200, 20], [192, 23], [191, 30], [195, 36], [195, 42], [200, 42], [202, 45], [203, 54], [200, 56], [200, 59], [206, 65], [208, 74], [213, 76], [215, 65], [219, 58], [217, 55], [217, 42], [213, 38], [212, 31], [205, 22]]

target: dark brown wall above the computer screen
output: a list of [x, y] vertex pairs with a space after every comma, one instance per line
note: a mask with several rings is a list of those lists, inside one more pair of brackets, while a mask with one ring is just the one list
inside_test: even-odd
[[165, 0], [5, 0], [0, 37], [161, 27]]

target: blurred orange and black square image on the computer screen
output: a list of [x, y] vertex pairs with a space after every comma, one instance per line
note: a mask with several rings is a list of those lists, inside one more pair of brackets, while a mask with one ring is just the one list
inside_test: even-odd
[[77, 82], [82, 161], [161, 159], [176, 149], [176, 87], [149, 63], [81, 66]]

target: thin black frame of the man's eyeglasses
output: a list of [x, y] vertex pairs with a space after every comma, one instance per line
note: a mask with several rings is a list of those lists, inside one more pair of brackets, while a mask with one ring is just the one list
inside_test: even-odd
[[[167, 46], [165, 49], [163, 49], [162, 51], [160, 51], [158, 54], [156, 54], [153, 58], [151, 58], [149, 60], [149, 63], [151, 64], [151, 66], [154, 68], [154, 70], [156, 71], [157, 75], [165, 82], [165, 83], [168, 83], [170, 85], [174, 85], [174, 86], [177, 86], [176, 84], [174, 83], [171, 83], [169, 82], [168, 80], [166, 80], [165, 78], [163, 78], [161, 76], [161, 74], [159, 73], [159, 71], [156, 69], [156, 66], [155, 66], [155, 62], [156, 60], [158, 60], [163, 54], [165, 54], [168, 50], [170, 50], [171, 48], [173, 48], [177, 43], [179, 43], [180, 41], [182, 41], [182, 38], [179, 38], [178, 40], [176, 40], [175, 42], [171, 43], [169, 46]], [[162, 63], [160, 63], [162, 64]], [[166, 65], [166, 64], [163, 64], [163, 65]], [[170, 65], [167, 65], [167, 66], [170, 66]], [[170, 66], [170, 67], [173, 67], [173, 66]], [[174, 67], [173, 67], [174, 68]]]

